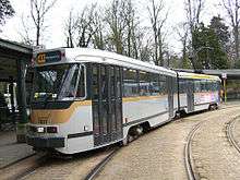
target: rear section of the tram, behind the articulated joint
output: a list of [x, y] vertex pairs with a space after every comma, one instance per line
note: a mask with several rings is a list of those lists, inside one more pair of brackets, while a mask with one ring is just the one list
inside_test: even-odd
[[178, 72], [179, 111], [190, 113], [218, 108], [220, 83], [218, 76]]

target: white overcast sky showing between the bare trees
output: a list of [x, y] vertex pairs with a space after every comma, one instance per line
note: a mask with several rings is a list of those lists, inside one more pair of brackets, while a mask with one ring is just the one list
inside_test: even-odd
[[[109, 3], [111, 0], [58, 0], [51, 11], [47, 14], [45, 25], [47, 26], [45, 31], [44, 40], [46, 48], [57, 48], [65, 46], [64, 39], [64, 21], [69, 15], [69, 11], [74, 9], [74, 11], [83, 10], [86, 4], [95, 3], [104, 5]], [[146, 11], [147, 0], [133, 0], [137, 7], [140, 20], [148, 25], [146, 20], [148, 19], [148, 13]], [[181, 51], [181, 44], [178, 40], [178, 36], [173, 31], [173, 27], [180, 22], [184, 21], [184, 0], [165, 0], [166, 9], [168, 9], [168, 21], [165, 26], [165, 31], [168, 32], [167, 43], [169, 48], [175, 52]], [[201, 16], [201, 20], [208, 24], [213, 15], [223, 14], [223, 9], [219, 8], [220, 0], [205, 0], [205, 9]], [[13, 9], [15, 10], [15, 15], [7, 20], [7, 24], [2, 27], [2, 33], [0, 33], [1, 38], [21, 41], [20, 32], [23, 32], [22, 27], [22, 16], [25, 19], [29, 17], [29, 0], [10, 0]], [[33, 32], [34, 33], [34, 32]]]

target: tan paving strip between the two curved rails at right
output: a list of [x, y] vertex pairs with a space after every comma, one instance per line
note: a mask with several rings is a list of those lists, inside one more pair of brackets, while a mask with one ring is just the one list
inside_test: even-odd
[[194, 136], [195, 171], [201, 179], [240, 179], [240, 154], [226, 136], [226, 125], [240, 116], [240, 107], [219, 112], [207, 118]]

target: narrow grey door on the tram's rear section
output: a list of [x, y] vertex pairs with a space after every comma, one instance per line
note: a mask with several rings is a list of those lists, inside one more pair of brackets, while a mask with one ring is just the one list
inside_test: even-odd
[[194, 110], [194, 84], [193, 81], [188, 81], [187, 83], [187, 101], [188, 111], [192, 112]]

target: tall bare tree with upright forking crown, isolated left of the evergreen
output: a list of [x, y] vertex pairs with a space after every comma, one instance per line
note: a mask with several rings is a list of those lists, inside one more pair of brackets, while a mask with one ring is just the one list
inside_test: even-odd
[[151, 5], [147, 7], [154, 35], [154, 61], [158, 65], [164, 65], [163, 58], [163, 26], [165, 25], [168, 13], [164, 13], [165, 4], [163, 0], [155, 2], [151, 0]]

